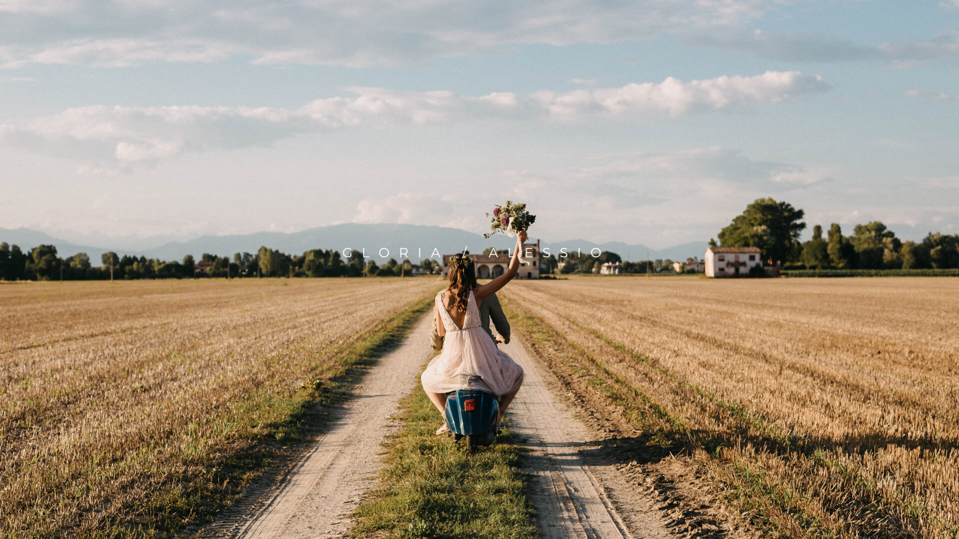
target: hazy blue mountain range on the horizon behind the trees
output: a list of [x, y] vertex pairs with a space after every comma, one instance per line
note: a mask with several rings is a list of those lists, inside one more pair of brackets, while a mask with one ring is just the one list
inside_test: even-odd
[[[530, 238], [535, 240], [536, 238]], [[24, 251], [40, 244], [57, 246], [61, 257], [85, 252], [96, 266], [101, 255], [107, 250], [120, 254], [147, 256], [160, 260], [182, 260], [187, 254], [199, 259], [203, 253], [220, 256], [232, 256], [235, 252], [256, 252], [260, 246], [268, 246], [291, 254], [299, 254], [312, 248], [332, 248], [343, 251], [344, 248], [364, 250], [366, 256], [384, 262], [389, 258], [399, 259], [400, 249], [405, 248], [413, 262], [418, 262], [433, 254], [469, 250], [479, 252], [487, 247], [498, 249], [513, 246], [514, 240], [507, 236], [496, 235], [485, 239], [481, 234], [445, 226], [425, 226], [419, 224], [362, 224], [342, 223], [318, 226], [299, 232], [254, 232], [252, 234], [232, 234], [223, 236], [200, 236], [185, 242], [169, 242], [159, 246], [138, 250], [116, 249], [109, 246], [80, 246], [58, 240], [45, 232], [29, 228], [0, 228], [0, 242], [20, 246]], [[541, 246], [550, 252], [558, 253], [565, 247], [570, 252], [587, 253], [591, 249], [609, 250], [619, 254], [623, 260], [672, 259], [686, 260], [691, 256], [702, 257], [706, 251], [706, 242], [690, 242], [664, 249], [654, 249], [643, 245], [630, 245], [622, 242], [596, 244], [587, 240], [575, 239], [562, 242], [542, 241]]]

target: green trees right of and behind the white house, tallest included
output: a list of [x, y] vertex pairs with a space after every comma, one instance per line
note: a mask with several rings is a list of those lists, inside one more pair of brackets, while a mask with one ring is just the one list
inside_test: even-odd
[[785, 269], [959, 269], [959, 234], [929, 232], [920, 242], [903, 242], [879, 221], [856, 224], [849, 236], [831, 223], [826, 237], [816, 224], [812, 239], [800, 242], [804, 216], [787, 202], [757, 199], [719, 232], [718, 245], [760, 247], [766, 264]]

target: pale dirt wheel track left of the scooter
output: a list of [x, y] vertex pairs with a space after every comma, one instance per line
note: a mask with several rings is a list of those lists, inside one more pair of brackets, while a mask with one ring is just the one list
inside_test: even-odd
[[245, 500], [231, 506], [202, 536], [344, 535], [350, 528], [345, 515], [356, 508], [380, 470], [380, 444], [390, 429], [389, 417], [433, 351], [430, 327], [430, 317], [424, 316], [403, 344], [369, 369], [344, 413], [282, 480], [251, 488]]

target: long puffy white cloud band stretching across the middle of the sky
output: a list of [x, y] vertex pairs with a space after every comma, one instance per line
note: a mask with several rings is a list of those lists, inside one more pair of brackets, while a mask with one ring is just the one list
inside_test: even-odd
[[0, 144], [74, 157], [84, 170], [153, 162], [182, 152], [269, 145], [303, 132], [361, 126], [421, 126], [500, 120], [631, 121], [767, 105], [823, 91], [819, 76], [766, 72], [753, 77], [631, 83], [559, 93], [480, 97], [449, 91], [347, 88], [354, 95], [317, 99], [297, 109], [239, 106], [105, 106], [0, 125]]

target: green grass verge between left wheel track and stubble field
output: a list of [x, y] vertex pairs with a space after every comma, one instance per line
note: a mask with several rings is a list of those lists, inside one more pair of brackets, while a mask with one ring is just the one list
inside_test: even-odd
[[[365, 330], [317, 365], [303, 387], [248, 395], [206, 424], [193, 426], [196, 452], [171, 456], [164, 469], [144, 470], [142, 484], [131, 486], [146, 493], [105, 526], [79, 532], [11, 532], [8, 537], [172, 538], [213, 522], [250, 481], [268, 468], [289, 465], [328, 423], [326, 409], [347, 400], [365, 369], [402, 341], [432, 306], [432, 298], [418, 301]], [[213, 432], [219, 434], [211, 436]]]

